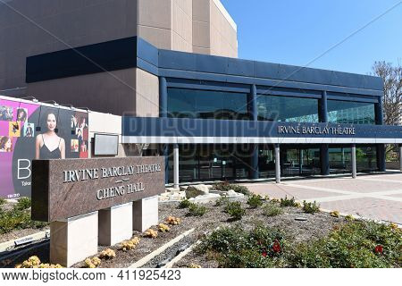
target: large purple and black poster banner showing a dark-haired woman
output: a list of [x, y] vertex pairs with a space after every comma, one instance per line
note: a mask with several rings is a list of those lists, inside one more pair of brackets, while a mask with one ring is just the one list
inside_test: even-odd
[[88, 158], [88, 113], [0, 98], [0, 198], [30, 197], [37, 140], [39, 159]]

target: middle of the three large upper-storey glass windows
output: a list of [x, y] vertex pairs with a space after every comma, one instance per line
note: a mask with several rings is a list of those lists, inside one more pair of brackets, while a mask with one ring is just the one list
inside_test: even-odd
[[303, 97], [257, 97], [258, 120], [318, 122], [318, 99]]

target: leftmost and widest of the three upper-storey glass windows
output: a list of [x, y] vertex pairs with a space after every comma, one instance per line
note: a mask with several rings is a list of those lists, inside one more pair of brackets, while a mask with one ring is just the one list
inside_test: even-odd
[[247, 94], [168, 88], [168, 112], [175, 118], [247, 120]]

